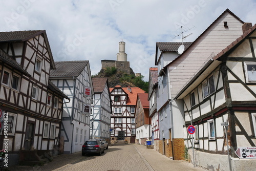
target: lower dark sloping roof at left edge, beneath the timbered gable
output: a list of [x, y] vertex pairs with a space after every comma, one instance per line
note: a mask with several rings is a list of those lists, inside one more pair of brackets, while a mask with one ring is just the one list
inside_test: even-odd
[[11, 58], [7, 53], [5, 53], [3, 50], [0, 49], [0, 60], [2, 60], [3, 62], [7, 63], [8, 65], [12, 66], [13, 68], [15, 68], [16, 70], [26, 74], [27, 76], [31, 76], [26, 70], [24, 70], [22, 68], [22, 66], [19, 65], [18, 62], [16, 62], [16, 60], [14, 60], [13, 58]]

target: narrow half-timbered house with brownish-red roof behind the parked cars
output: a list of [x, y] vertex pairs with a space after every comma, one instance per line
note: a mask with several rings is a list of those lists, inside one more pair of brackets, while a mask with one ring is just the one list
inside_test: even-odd
[[93, 138], [104, 138], [110, 144], [111, 97], [108, 78], [92, 78], [94, 96], [91, 120], [93, 119]]

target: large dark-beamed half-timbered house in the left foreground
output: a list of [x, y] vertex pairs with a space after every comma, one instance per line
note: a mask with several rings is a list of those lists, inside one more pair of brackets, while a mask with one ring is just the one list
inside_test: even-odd
[[5, 149], [3, 142], [8, 142], [9, 165], [36, 163], [45, 152], [62, 151], [62, 102], [69, 98], [49, 80], [51, 69], [45, 30], [0, 32], [1, 120], [8, 118], [0, 146]]

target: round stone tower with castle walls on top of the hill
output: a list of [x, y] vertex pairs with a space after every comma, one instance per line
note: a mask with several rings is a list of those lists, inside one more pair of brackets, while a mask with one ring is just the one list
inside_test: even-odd
[[127, 74], [134, 74], [130, 67], [130, 62], [127, 61], [127, 54], [125, 53], [125, 42], [119, 42], [119, 53], [116, 54], [117, 60], [101, 60], [101, 69], [106, 67], [116, 67], [117, 71], [122, 71]]

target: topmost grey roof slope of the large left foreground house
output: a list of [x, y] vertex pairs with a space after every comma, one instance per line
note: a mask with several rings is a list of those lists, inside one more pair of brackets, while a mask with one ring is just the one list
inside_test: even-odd
[[26, 31], [10, 31], [0, 32], [0, 42], [5, 41], [25, 41], [36, 35], [44, 33], [45, 30], [26, 30]]

